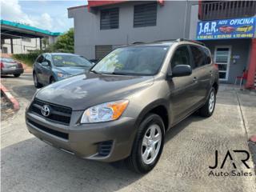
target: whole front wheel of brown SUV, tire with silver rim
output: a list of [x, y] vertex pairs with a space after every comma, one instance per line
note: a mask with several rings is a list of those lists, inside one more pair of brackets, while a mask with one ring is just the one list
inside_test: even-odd
[[138, 173], [147, 173], [157, 164], [164, 145], [165, 126], [157, 114], [149, 114], [138, 128], [133, 150], [126, 159], [128, 166]]

